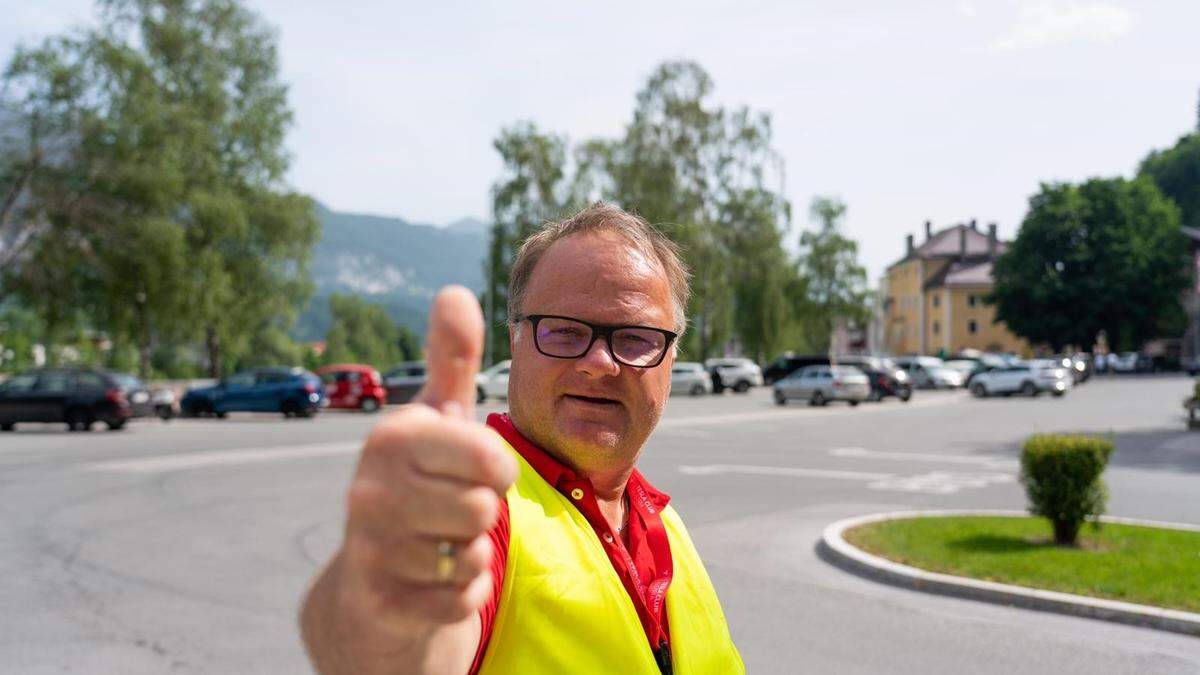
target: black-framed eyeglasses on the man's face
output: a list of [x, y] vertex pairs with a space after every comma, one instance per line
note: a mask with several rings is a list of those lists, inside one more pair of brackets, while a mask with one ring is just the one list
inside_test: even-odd
[[600, 338], [619, 364], [654, 368], [662, 363], [678, 333], [648, 325], [599, 325], [569, 316], [527, 315], [518, 321], [533, 324], [533, 344], [544, 356], [577, 359], [592, 351]]

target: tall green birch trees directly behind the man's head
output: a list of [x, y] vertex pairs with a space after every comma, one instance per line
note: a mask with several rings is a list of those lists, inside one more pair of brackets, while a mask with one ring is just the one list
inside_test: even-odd
[[688, 61], [659, 66], [617, 139], [570, 147], [530, 124], [502, 131], [504, 174], [493, 187], [494, 228], [484, 297], [490, 360], [508, 356], [505, 285], [511, 257], [544, 221], [606, 199], [658, 223], [692, 273], [684, 358], [736, 342], [763, 359], [784, 344], [794, 267], [782, 250], [791, 219], [770, 118], [712, 103], [713, 82]]

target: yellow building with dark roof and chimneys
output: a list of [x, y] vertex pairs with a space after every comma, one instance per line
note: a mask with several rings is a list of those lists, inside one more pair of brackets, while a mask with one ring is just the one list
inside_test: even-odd
[[940, 232], [925, 221], [925, 243], [908, 235], [907, 252], [883, 280], [884, 351], [892, 354], [955, 354], [961, 350], [1030, 356], [1030, 345], [996, 323], [991, 265], [1004, 251], [996, 225], [974, 221]]

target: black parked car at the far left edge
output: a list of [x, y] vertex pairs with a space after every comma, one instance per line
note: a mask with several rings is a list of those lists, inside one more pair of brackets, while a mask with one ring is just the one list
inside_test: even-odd
[[[130, 390], [145, 393], [144, 388]], [[134, 417], [126, 392], [116, 376], [98, 370], [60, 368], [22, 372], [0, 384], [0, 430], [12, 431], [24, 422], [43, 422], [66, 424], [71, 431], [89, 431], [92, 424], [103, 422], [115, 431]]]

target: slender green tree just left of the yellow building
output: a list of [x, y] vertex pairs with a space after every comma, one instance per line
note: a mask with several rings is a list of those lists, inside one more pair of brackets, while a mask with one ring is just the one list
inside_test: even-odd
[[815, 197], [809, 215], [816, 231], [800, 234], [796, 312], [803, 322], [805, 347], [826, 352], [839, 324], [870, 318], [866, 268], [858, 263], [858, 243], [839, 231], [846, 204], [836, 197]]

